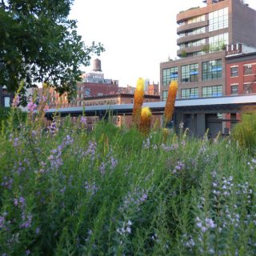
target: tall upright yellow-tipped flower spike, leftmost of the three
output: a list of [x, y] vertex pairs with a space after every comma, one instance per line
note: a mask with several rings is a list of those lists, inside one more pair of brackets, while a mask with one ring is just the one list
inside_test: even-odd
[[133, 120], [134, 120], [135, 126], [139, 125], [139, 120], [142, 113], [143, 99], [144, 99], [144, 79], [138, 78], [137, 86], [134, 92]]

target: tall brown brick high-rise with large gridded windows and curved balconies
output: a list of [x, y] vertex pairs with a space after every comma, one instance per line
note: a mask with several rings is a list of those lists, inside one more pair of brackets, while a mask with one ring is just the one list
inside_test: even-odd
[[242, 0], [207, 0], [205, 7], [177, 15], [178, 60], [160, 64], [160, 91], [166, 100], [170, 82], [178, 98], [226, 94], [226, 45], [256, 46], [256, 11]]

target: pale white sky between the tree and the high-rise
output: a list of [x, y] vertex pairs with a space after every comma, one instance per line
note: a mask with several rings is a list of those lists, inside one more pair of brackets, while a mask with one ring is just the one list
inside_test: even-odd
[[[255, 0], [244, 0], [256, 10]], [[178, 38], [176, 14], [202, 0], [74, 0], [70, 18], [77, 20], [78, 34], [86, 46], [102, 42], [99, 57], [105, 78], [119, 86], [136, 86], [138, 78], [160, 82], [160, 63], [176, 58]], [[256, 31], [255, 31], [256, 32]]]

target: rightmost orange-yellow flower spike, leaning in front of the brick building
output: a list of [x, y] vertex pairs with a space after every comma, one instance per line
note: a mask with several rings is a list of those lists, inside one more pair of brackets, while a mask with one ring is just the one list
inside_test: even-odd
[[174, 104], [175, 104], [175, 100], [176, 100], [177, 91], [178, 91], [178, 82], [172, 81], [170, 83], [170, 89], [168, 91], [168, 97], [166, 100], [166, 108], [165, 108], [166, 123], [170, 122], [171, 118], [173, 117]]

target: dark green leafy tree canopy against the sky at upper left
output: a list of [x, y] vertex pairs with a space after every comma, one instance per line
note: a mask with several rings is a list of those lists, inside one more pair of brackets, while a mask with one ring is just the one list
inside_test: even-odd
[[[0, 0], [0, 85], [9, 91], [45, 82], [74, 93], [81, 66], [101, 43], [86, 46], [68, 15], [74, 0]], [[24, 90], [23, 90], [24, 91]]]

